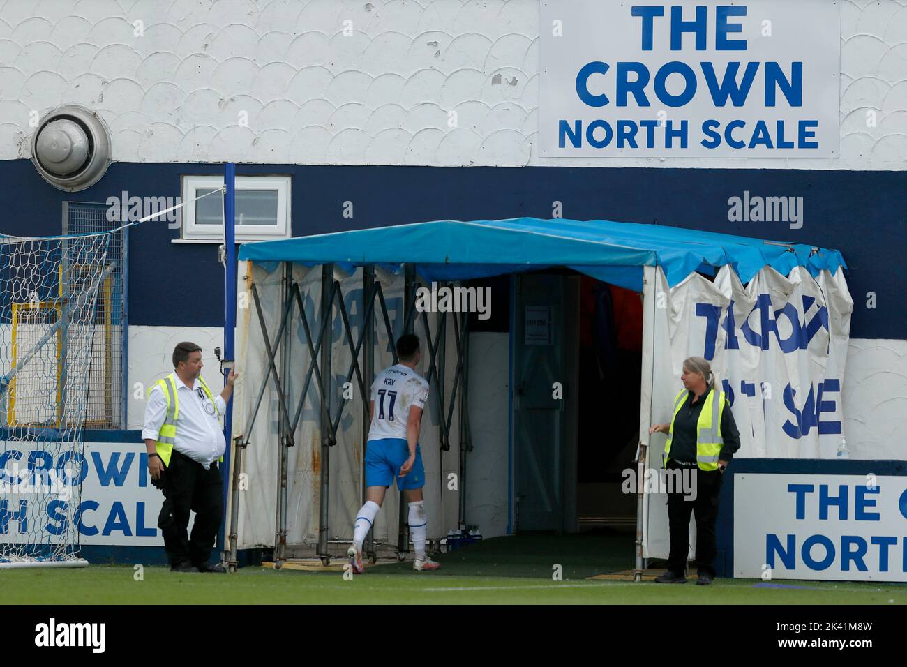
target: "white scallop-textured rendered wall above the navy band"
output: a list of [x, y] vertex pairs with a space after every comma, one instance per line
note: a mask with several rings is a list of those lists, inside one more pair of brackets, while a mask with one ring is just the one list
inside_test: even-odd
[[0, 159], [75, 102], [121, 162], [905, 168], [907, 0], [841, 3], [838, 160], [541, 159], [539, 2], [0, 0]]

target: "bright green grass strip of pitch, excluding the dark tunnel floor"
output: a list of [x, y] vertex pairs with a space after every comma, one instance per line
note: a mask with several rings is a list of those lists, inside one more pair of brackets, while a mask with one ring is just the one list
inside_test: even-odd
[[527, 577], [380, 573], [383, 565], [344, 581], [340, 573], [242, 568], [238, 574], [173, 574], [146, 567], [134, 581], [128, 565], [0, 573], [6, 604], [903, 604], [907, 590], [892, 584], [784, 582], [806, 588], [754, 588], [752, 580], [712, 586], [634, 584]]

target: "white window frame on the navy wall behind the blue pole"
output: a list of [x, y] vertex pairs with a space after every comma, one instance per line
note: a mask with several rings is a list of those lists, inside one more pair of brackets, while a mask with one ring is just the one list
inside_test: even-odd
[[[200, 190], [216, 190], [223, 187], [222, 175], [182, 175], [182, 201], [187, 202], [182, 208], [180, 238], [174, 242], [223, 243], [224, 228], [215, 225], [200, 225], [195, 222], [195, 198]], [[291, 194], [292, 177], [289, 175], [237, 176], [236, 190], [276, 190], [278, 191], [278, 223], [271, 225], [236, 225], [235, 240], [245, 243], [258, 240], [278, 240], [292, 237]], [[216, 196], [216, 195], [211, 195]], [[211, 231], [211, 228], [215, 231]]]

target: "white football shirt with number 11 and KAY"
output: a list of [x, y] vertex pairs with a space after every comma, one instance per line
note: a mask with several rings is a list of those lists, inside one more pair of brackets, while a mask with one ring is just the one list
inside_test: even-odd
[[375, 417], [368, 429], [368, 439], [405, 439], [409, 408], [424, 409], [428, 402], [428, 382], [412, 368], [396, 364], [378, 373], [372, 383], [372, 400], [375, 401]]

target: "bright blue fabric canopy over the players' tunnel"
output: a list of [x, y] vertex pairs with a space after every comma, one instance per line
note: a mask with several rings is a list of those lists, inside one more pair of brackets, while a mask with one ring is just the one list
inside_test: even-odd
[[336, 263], [346, 270], [377, 264], [399, 270], [414, 263], [425, 280], [467, 280], [563, 266], [634, 291], [642, 267], [660, 266], [675, 286], [696, 270], [730, 264], [744, 283], [763, 267], [787, 275], [803, 266], [815, 276], [847, 268], [838, 250], [779, 243], [663, 225], [512, 218], [415, 222], [246, 243], [239, 260]]

